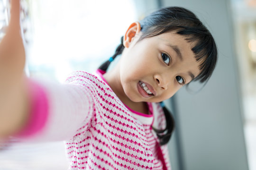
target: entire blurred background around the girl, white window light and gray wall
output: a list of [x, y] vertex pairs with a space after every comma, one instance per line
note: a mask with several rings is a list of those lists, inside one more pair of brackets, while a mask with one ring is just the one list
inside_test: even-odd
[[[219, 60], [210, 81], [165, 101], [176, 129], [173, 170], [256, 170], [256, 0], [21, 0], [29, 76], [63, 82], [94, 72], [129, 24], [158, 8], [192, 10], [213, 34]], [[9, 22], [0, 0], [0, 39]], [[199, 92], [197, 92], [199, 90]], [[66, 170], [64, 143], [2, 144], [0, 170]]]

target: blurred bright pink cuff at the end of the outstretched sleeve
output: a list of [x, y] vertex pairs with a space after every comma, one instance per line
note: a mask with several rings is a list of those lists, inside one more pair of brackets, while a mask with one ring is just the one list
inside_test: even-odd
[[30, 113], [27, 125], [16, 135], [18, 137], [28, 137], [40, 132], [48, 117], [49, 106], [45, 90], [30, 79], [27, 84], [30, 93]]

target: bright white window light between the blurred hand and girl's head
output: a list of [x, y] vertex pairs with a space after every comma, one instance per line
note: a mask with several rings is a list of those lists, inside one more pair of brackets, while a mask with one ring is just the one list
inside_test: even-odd
[[133, 0], [30, 0], [29, 8], [30, 75], [60, 82], [74, 70], [93, 72], [137, 20]]

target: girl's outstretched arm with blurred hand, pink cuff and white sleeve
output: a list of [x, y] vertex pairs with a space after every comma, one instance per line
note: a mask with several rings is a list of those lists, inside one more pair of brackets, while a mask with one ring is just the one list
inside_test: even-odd
[[94, 116], [92, 80], [82, 72], [65, 85], [26, 78], [20, 29], [19, 0], [11, 0], [10, 23], [0, 42], [0, 138], [70, 139], [81, 127], [87, 129]]

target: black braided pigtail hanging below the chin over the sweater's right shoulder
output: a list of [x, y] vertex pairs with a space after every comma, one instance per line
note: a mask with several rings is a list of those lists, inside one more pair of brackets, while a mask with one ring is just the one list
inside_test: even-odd
[[169, 142], [174, 131], [174, 118], [171, 112], [166, 109], [164, 102], [160, 102], [160, 105], [162, 106], [165, 113], [166, 127], [163, 130], [158, 130], [154, 127], [152, 128], [160, 140], [160, 145], [164, 145]]

